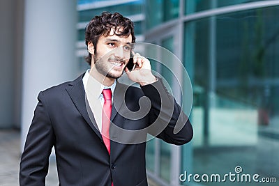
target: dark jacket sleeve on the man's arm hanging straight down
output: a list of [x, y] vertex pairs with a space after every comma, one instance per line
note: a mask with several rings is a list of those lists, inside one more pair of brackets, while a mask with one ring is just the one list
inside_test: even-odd
[[43, 92], [39, 93], [38, 101], [20, 162], [22, 186], [45, 185], [49, 157], [54, 144], [54, 132]]

